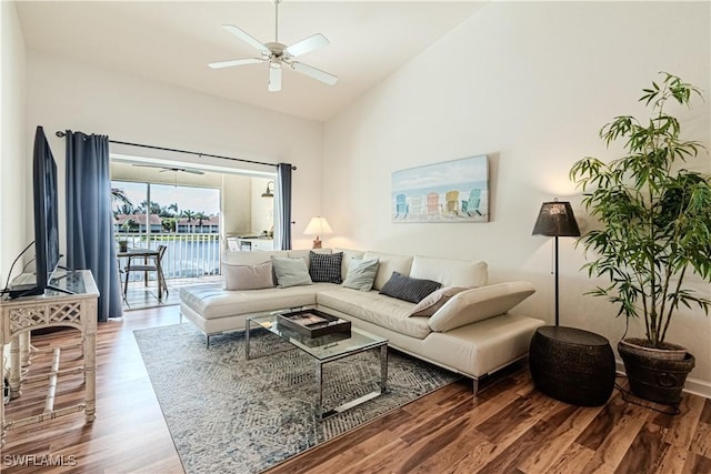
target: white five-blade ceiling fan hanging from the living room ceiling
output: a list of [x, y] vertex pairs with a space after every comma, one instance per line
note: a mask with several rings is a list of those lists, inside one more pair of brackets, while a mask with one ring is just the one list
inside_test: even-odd
[[249, 33], [244, 32], [234, 24], [223, 24], [222, 28], [226, 31], [234, 34], [240, 40], [256, 48], [260, 57], [234, 59], [231, 61], [211, 62], [208, 64], [212, 69], [231, 68], [233, 65], [247, 65], [257, 64], [261, 62], [269, 63], [269, 91], [278, 92], [281, 90], [281, 70], [282, 67], [293, 69], [297, 72], [309, 75], [318, 81], [324, 82], [329, 85], [333, 85], [338, 78], [328, 72], [321, 71], [312, 65], [304, 64], [303, 62], [294, 61], [293, 58], [306, 54], [307, 52], [314, 51], [319, 48], [323, 48], [329, 43], [329, 40], [321, 33], [316, 33], [298, 41], [290, 47], [279, 42], [279, 3], [281, 0], [274, 0], [276, 20], [274, 20], [274, 42], [260, 43]]

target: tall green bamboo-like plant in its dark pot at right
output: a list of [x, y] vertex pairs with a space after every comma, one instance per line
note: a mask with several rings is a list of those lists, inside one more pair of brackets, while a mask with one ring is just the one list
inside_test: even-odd
[[643, 89], [640, 99], [649, 118], [621, 115], [600, 130], [608, 148], [624, 142], [624, 155], [609, 163], [584, 158], [573, 164], [570, 178], [583, 191], [585, 210], [601, 224], [580, 238], [585, 255], [593, 254], [583, 269], [610, 281], [587, 294], [615, 304], [628, 326], [630, 317], [644, 321], [644, 337], [618, 345], [630, 389], [643, 399], [677, 405], [694, 357], [667, 342], [667, 334], [681, 305], [709, 314], [711, 301], [684, 286], [684, 280], [695, 273], [711, 281], [711, 179], [681, 168], [705, 149], [683, 140], [679, 120], [665, 110], [673, 102], [690, 107], [701, 92], [661, 74], [663, 80]]

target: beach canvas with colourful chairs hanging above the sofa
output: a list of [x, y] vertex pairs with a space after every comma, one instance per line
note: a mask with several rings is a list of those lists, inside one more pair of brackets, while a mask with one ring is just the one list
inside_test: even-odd
[[485, 154], [392, 173], [392, 222], [489, 222]]

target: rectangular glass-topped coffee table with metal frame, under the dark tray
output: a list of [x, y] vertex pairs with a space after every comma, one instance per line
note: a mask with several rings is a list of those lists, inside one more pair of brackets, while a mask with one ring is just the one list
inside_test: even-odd
[[[257, 359], [250, 355], [249, 337], [252, 325], [263, 327], [272, 334], [278, 335], [291, 345], [300, 349], [316, 360], [316, 379], [318, 384], [317, 391], [317, 418], [324, 420], [337, 413], [344, 412], [372, 400], [388, 391], [388, 340], [365, 331], [352, 327], [350, 333], [333, 333], [318, 337], [310, 337], [300, 334], [289, 327], [279, 324], [279, 314], [289, 311], [277, 311], [270, 313], [251, 314], [246, 317], [244, 331], [244, 351], [247, 360]], [[331, 410], [323, 410], [323, 365], [329, 362], [338, 361], [360, 352], [370, 350], [380, 350], [380, 390], [370, 392], [356, 400], [343, 403]], [[278, 351], [283, 352], [283, 351]], [[258, 357], [273, 355], [277, 352], [260, 354]]]

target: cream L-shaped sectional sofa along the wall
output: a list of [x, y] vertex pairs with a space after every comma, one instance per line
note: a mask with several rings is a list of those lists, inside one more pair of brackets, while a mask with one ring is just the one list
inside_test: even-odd
[[[533, 286], [528, 282], [488, 285], [484, 262], [339, 249], [318, 252], [343, 253], [343, 280], [351, 262], [357, 262], [352, 259], [377, 259], [373, 289], [359, 291], [336, 283], [260, 290], [194, 285], [181, 290], [181, 316], [206, 334], [209, 345], [212, 335], [243, 330], [248, 314], [316, 306], [387, 337], [391, 347], [471, 377], [474, 393], [480, 377], [525, 356], [535, 329], [544, 324], [509, 311], [531, 295]], [[269, 262], [272, 256], [301, 258], [308, 266], [309, 255], [309, 250], [227, 252], [223, 273]], [[412, 315], [420, 307], [415, 303], [380, 293], [393, 272], [459, 292], [440, 301], [445, 302], [432, 315]]]

